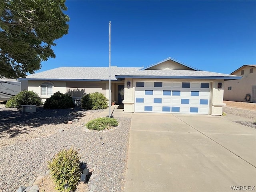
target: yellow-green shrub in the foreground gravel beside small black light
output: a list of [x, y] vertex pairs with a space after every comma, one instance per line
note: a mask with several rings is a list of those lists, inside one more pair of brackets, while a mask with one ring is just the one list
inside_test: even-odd
[[80, 182], [80, 165], [82, 164], [78, 152], [74, 149], [60, 151], [52, 162], [48, 162], [52, 178], [58, 191], [64, 191], [64, 185], [69, 184], [68, 191], [76, 190]]

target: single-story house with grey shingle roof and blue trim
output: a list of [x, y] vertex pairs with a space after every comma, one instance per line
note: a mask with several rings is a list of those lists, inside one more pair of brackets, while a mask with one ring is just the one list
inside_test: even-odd
[[[46, 100], [54, 92], [109, 98], [107, 67], [60, 67], [26, 76], [28, 90]], [[240, 76], [201, 71], [172, 58], [144, 68], [111, 67], [112, 101], [124, 112], [222, 115], [224, 80]]]

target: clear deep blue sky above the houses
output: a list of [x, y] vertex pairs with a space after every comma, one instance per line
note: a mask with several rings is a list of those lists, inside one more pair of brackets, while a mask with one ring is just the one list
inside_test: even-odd
[[56, 40], [61, 66], [142, 67], [172, 57], [230, 74], [256, 64], [256, 1], [66, 1], [69, 32]]

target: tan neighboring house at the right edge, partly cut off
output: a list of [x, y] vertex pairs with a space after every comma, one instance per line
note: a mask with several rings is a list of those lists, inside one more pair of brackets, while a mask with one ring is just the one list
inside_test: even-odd
[[224, 100], [256, 103], [256, 65], [243, 65], [230, 74], [242, 79], [224, 82]]

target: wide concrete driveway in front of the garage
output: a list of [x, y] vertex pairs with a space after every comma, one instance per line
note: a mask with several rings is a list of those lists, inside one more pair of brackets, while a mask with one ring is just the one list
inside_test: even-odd
[[254, 128], [221, 116], [132, 115], [125, 192], [253, 188], [255, 167]]

